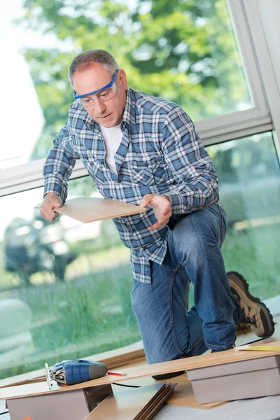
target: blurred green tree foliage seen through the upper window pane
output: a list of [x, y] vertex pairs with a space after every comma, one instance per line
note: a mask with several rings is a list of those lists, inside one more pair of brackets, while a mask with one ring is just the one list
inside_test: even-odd
[[67, 69], [73, 57], [89, 48], [111, 52], [127, 72], [130, 87], [180, 104], [193, 120], [248, 105], [225, 0], [127, 3], [25, 0], [23, 24], [56, 39], [51, 49], [25, 51], [45, 116], [33, 158], [45, 156], [65, 123], [73, 99]]

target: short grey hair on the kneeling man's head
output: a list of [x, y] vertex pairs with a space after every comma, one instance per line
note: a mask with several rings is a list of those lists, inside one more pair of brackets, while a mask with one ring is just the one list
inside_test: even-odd
[[120, 69], [116, 59], [105, 50], [86, 50], [77, 55], [71, 62], [68, 71], [70, 85], [73, 87], [73, 75], [76, 71], [83, 71], [90, 66], [91, 63], [99, 63], [105, 67], [110, 73], [115, 73]]

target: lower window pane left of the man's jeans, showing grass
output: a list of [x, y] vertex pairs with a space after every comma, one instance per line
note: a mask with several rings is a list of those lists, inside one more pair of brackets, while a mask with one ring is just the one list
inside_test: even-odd
[[[88, 180], [70, 181], [69, 198], [95, 195]], [[48, 223], [34, 209], [42, 193], [0, 199], [0, 379], [140, 339], [130, 253], [112, 221]]]

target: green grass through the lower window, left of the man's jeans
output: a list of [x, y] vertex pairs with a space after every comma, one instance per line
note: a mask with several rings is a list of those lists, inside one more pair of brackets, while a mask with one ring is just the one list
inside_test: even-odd
[[24, 365], [1, 370], [0, 379], [40, 369], [46, 361], [52, 365], [141, 339], [128, 304], [131, 288], [130, 265], [80, 276], [75, 281], [18, 288], [17, 297], [27, 303], [36, 325], [31, 330], [35, 351]]

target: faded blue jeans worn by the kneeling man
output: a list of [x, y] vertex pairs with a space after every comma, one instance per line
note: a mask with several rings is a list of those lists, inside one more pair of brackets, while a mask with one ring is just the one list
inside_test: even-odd
[[[137, 316], [148, 363], [224, 350], [235, 343], [241, 309], [230, 293], [221, 253], [225, 212], [214, 204], [169, 230], [162, 265], [151, 261], [152, 284], [134, 281]], [[195, 305], [188, 311], [190, 281]]]

